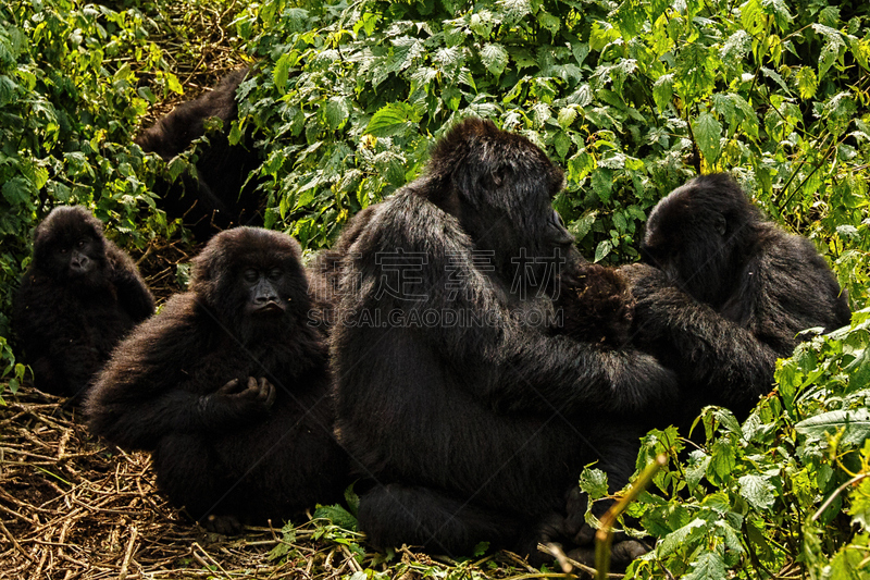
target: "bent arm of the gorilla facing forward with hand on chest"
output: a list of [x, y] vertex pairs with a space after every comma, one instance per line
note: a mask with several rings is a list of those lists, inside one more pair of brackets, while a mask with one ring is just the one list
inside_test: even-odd
[[204, 384], [207, 378], [185, 371], [208, 354], [208, 330], [192, 294], [173, 297], [139, 325], [97, 378], [85, 407], [90, 429], [122, 447], [151, 451], [170, 433], [217, 431], [262, 416], [275, 397], [265, 379], [245, 384], [227, 373], [224, 384]]

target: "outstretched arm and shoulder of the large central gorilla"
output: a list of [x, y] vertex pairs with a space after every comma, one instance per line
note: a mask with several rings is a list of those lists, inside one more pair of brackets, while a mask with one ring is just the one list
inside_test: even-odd
[[[362, 263], [359, 256], [388, 255], [395, 248], [425, 257], [425, 264], [412, 270], [401, 298], [376, 296], [390, 273], [371, 260]], [[359, 305], [357, 313], [399, 310], [402, 320], [414, 310], [483, 313], [482, 324], [442, 323], [414, 336], [455, 369], [464, 388], [494, 406], [634, 412], [668, 399], [675, 390], [672, 373], [649, 355], [523, 328], [498, 298], [493, 281], [474, 266], [472, 242], [456, 219], [418, 196], [397, 194], [381, 211], [377, 227], [360, 236], [350, 251], [357, 257], [360, 294], [346, 300]]]

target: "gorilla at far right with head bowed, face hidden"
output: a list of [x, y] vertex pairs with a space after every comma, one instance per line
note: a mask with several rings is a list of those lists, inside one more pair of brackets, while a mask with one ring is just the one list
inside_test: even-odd
[[636, 344], [681, 380], [678, 423], [705, 405], [745, 419], [798, 333], [848, 324], [846, 296], [812, 244], [765, 222], [728, 174], [704, 175], [654, 208], [646, 264], [621, 269], [636, 299]]

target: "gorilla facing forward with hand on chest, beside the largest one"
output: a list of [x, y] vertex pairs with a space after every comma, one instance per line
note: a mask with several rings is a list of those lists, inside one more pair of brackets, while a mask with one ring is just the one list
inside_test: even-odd
[[153, 454], [158, 486], [214, 531], [340, 497], [327, 347], [299, 245], [223, 232], [190, 289], [122, 343], [87, 402], [94, 433]]

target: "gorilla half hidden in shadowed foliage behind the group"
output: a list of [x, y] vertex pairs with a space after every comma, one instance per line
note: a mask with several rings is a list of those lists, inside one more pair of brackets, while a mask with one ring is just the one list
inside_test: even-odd
[[198, 239], [234, 225], [262, 223], [256, 180], [245, 185], [260, 164], [259, 156], [244, 143], [229, 145], [227, 139], [229, 125], [238, 118], [236, 89], [247, 74], [247, 69], [231, 73], [214, 90], [179, 104], [136, 138], [142, 150], [170, 161], [206, 134], [208, 119], [223, 122], [223, 129], [209, 134], [209, 144], [199, 147], [197, 178], [185, 173], [179, 182], [158, 184], [166, 215], [182, 218]]

